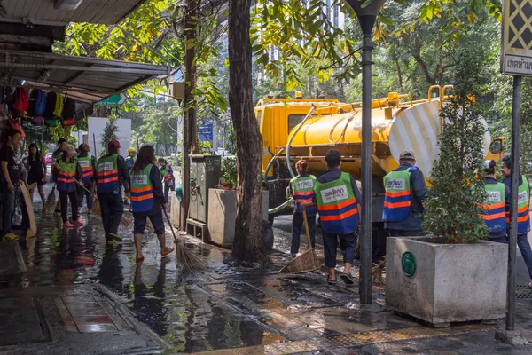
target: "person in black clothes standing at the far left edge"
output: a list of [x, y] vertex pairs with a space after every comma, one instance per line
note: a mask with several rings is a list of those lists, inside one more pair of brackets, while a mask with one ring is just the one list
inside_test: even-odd
[[20, 164], [15, 158], [15, 150], [20, 145], [20, 132], [7, 131], [7, 142], [0, 149], [0, 207], [2, 208], [2, 239], [15, 241], [19, 239], [12, 233], [12, 217], [15, 211], [15, 185], [19, 184]]

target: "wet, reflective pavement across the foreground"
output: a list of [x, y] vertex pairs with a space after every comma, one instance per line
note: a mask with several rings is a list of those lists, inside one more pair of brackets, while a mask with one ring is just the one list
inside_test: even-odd
[[[19, 241], [27, 272], [0, 282], [3, 338], [10, 334], [10, 322], [29, 329], [31, 336], [12, 333], [9, 342], [0, 341], [0, 352], [22, 353], [13, 345], [57, 342], [74, 334], [109, 336], [105, 349], [98, 348], [103, 346], [98, 343], [80, 347], [85, 351], [79, 353], [151, 353], [154, 349], [217, 354], [531, 352], [493, 340], [501, 324], [476, 322], [433, 329], [401, 317], [387, 310], [384, 288], [379, 285], [374, 285], [375, 302], [368, 307], [359, 304], [357, 285], [331, 287], [323, 271], [279, 275], [277, 271], [288, 261], [282, 251], [289, 249], [289, 217], [276, 220], [272, 264], [261, 270], [227, 266], [223, 258], [230, 250], [180, 235], [185, 246], [207, 264], [204, 272], [183, 275], [175, 256], [161, 260], [153, 233], [143, 239], [145, 262], [136, 264], [129, 230], [121, 228], [121, 245], [107, 247], [99, 216], [83, 213], [84, 225], [65, 231], [59, 227], [59, 216], [43, 215], [40, 207], [35, 202], [37, 236]], [[131, 218], [129, 212], [126, 216]], [[171, 234], [167, 235], [170, 245]], [[320, 240], [318, 234], [318, 256], [322, 256]], [[301, 249], [305, 248], [301, 241]], [[357, 267], [353, 275], [357, 276]], [[5, 316], [13, 309], [23, 312], [9, 320]], [[50, 325], [48, 332], [43, 330], [43, 319]], [[518, 302], [517, 319], [532, 340], [532, 299]], [[120, 342], [111, 346], [113, 339], [123, 341], [135, 332], [144, 335], [129, 342], [130, 348]], [[52, 349], [46, 346], [43, 349]]]

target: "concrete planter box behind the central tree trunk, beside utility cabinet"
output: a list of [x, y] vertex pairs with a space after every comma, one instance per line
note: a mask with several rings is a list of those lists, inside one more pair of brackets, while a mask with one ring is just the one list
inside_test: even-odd
[[[234, 190], [208, 190], [209, 241], [231, 248], [235, 239], [237, 217], [237, 192]], [[262, 219], [268, 220], [268, 191], [262, 191]]]

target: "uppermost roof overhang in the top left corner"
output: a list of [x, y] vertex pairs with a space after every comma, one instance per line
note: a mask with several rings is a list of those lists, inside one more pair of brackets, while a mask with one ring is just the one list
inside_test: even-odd
[[[145, 0], [0, 0], [0, 21], [38, 25], [113, 25]], [[4, 11], [3, 11], [4, 10]]]

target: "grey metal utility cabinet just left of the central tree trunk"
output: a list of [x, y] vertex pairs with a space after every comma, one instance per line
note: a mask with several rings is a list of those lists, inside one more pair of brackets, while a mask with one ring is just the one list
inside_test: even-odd
[[[187, 232], [194, 236], [198, 227], [205, 239], [207, 231], [208, 189], [220, 183], [222, 157], [220, 155], [191, 155], [190, 213]], [[192, 228], [189, 228], [192, 227]], [[192, 233], [191, 233], [192, 232]]]

